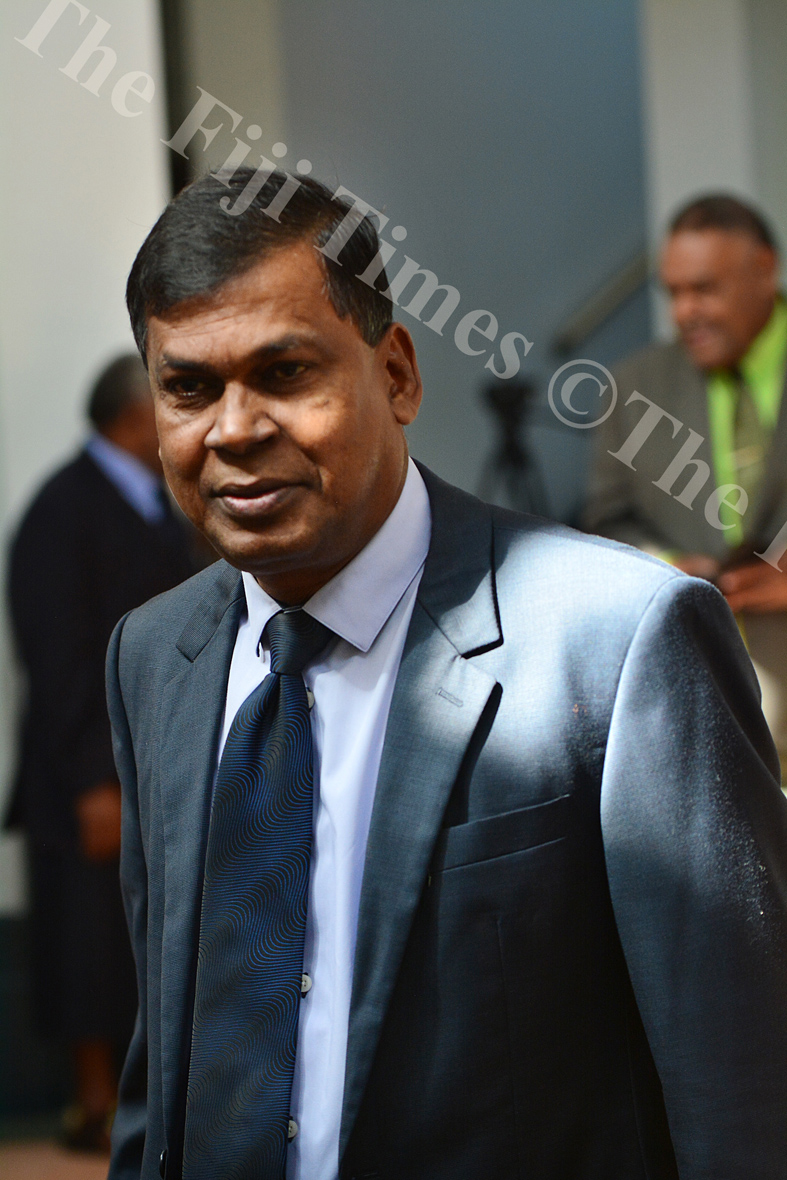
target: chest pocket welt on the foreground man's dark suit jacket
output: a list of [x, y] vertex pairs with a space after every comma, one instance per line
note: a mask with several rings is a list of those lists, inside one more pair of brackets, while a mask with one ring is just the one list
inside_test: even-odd
[[563, 839], [569, 832], [571, 801], [571, 795], [558, 795], [544, 804], [444, 828], [429, 873], [493, 860]]

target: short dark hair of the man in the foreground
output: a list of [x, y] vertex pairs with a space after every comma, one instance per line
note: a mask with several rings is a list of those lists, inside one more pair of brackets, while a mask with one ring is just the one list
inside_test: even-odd
[[[238, 216], [227, 212], [219, 203], [222, 195], [232, 208], [254, 175], [254, 169], [240, 168], [231, 176], [201, 177], [169, 203], [145, 238], [126, 288], [131, 327], [143, 359], [151, 315], [164, 315], [185, 300], [215, 291], [271, 250], [303, 238], [324, 245], [352, 208], [324, 184], [304, 177], [276, 221], [265, 210], [288, 179], [276, 171], [248, 209]], [[385, 269], [374, 287], [356, 275], [366, 270], [378, 249], [374, 224], [365, 217], [342, 248], [339, 263], [320, 255], [336, 315], [349, 315], [372, 347], [392, 322], [392, 302], [382, 294], [388, 282]]]

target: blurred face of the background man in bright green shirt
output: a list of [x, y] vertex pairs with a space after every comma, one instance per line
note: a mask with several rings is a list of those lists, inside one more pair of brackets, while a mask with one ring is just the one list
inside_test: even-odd
[[748, 234], [704, 229], [667, 240], [661, 277], [693, 361], [714, 369], [737, 365], [765, 327], [779, 273], [773, 250]]

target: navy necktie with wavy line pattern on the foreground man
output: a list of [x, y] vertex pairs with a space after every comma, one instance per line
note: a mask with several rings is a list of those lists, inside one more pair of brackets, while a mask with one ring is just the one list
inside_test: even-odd
[[283, 1180], [311, 853], [313, 753], [301, 671], [334, 637], [282, 610], [270, 675], [237, 712], [210, 813], [183, 1180]]

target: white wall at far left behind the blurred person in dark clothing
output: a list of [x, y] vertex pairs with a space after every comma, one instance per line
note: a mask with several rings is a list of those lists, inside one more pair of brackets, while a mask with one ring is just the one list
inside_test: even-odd
[[[68, 5], [40, 46], [21, 45], [46, 0], [0, 6], [0, 529], [2, 549], [41, 478], [83, 433], [86, 388], [113, 353], [132, 347], [124, 308], [129, 267], [168, 196], [163, 71], [155, 0]], [[96, 96], [61, 72], [99, 17], [117, 65]], [[112, 106], [117, 80], [145, 71], [138, 117]], [[0, 570], [0, 573], [4, 571]], [[57, 578], [57, 570], [52, 571]], [[5, 575], [4, 575], [5, 579]], [[13, 683], [0, 635], [0, 806], [12, 765]], [[0, 912], [21, 905], [19, 847], [0, 843]]]

